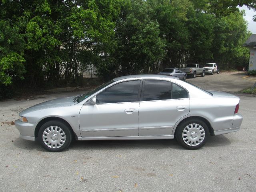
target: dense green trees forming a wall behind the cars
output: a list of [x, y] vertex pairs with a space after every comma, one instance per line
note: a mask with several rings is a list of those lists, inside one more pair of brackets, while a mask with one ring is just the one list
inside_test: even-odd
[[243, 12], [254, 0], [2, 0], [0, 96], [13, 86], [79, 84], [188, 62], [248, 65]]

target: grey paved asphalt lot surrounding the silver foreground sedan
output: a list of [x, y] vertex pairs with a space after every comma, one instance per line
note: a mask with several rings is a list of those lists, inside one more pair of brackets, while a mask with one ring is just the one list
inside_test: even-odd
[[[244, 73], [187, 79], [202, 88], [236, 92], [252, 86]], [[8, 122], [34, 104], [78, 92], [0, 102], [0, 191], [255, 192], [256, 97], [240, 97], [238, 132], [212, 136], [200, 150], [176, 140], [75, 141], [68, 150], [46, 152], [19, 138]]]

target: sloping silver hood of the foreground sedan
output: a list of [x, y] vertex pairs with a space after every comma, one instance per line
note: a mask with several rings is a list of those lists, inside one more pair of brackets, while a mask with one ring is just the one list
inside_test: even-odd
[[54, 108], [54, 107], [60, 107], [60, 106], [75, 105], [75, 104], [77, 104], [76, 102], [73, 101], [75, 97], [76, 96], [57, 98], [57, 99], [53, 99], [53, 100], [49, 100], [49, 101], [46, 101], [46, 102], [36, 104], [36, 105], [31, 106], [30, 108], [27, 108], [24, 111], [20, 112], [20, 116], [22, 116], [22, 114], [24, 114], [24, 113], [32, 112], [32, 111], [35, 111], [35, 110], [40, 110], [40, 109], [45, 109], [45, 108]]

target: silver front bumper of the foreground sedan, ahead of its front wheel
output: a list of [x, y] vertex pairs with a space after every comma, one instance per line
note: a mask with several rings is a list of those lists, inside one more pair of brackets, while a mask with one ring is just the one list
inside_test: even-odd
[[35, 140], [36, 124], [33, 122], [22, 122], [20, 120], [15, 121], [15, 126], [20, 132], [20, 137], [25, 140]]

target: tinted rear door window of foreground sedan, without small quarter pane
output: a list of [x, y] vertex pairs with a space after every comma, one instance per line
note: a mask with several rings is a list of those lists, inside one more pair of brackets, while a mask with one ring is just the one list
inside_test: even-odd
[[145, 80], [143, 101], [171, 99], [172, 83], [161, 80]]

